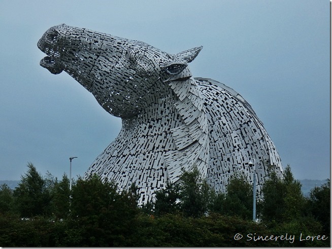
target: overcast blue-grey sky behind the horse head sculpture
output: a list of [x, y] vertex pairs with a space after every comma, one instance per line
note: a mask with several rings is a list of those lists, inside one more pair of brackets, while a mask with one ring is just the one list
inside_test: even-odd
[[168, 53], [203, 50], [193, 76], [218, 80], [253, 107], [296, 179], [330, 174], [329, 1], [1, 1], [0, 180], [32, 162], [61, 179], [84, 175], [121, 119], [77, 81], [39, 65], [37, 41], [65, 23], [145, 41]]

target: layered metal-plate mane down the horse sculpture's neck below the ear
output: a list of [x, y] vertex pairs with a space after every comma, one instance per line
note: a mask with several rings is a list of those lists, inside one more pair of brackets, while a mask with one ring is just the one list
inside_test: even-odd
[[192, 169], [193, 165], [206, 176], [209, 164], [208, 121], [204, 100], [193, 77], [167, 81], [178, 100], [174, 103], [184, 125], [171, 130], [177, 151], [164, 156], [169, 180], [179, 180], [182, 168]]

